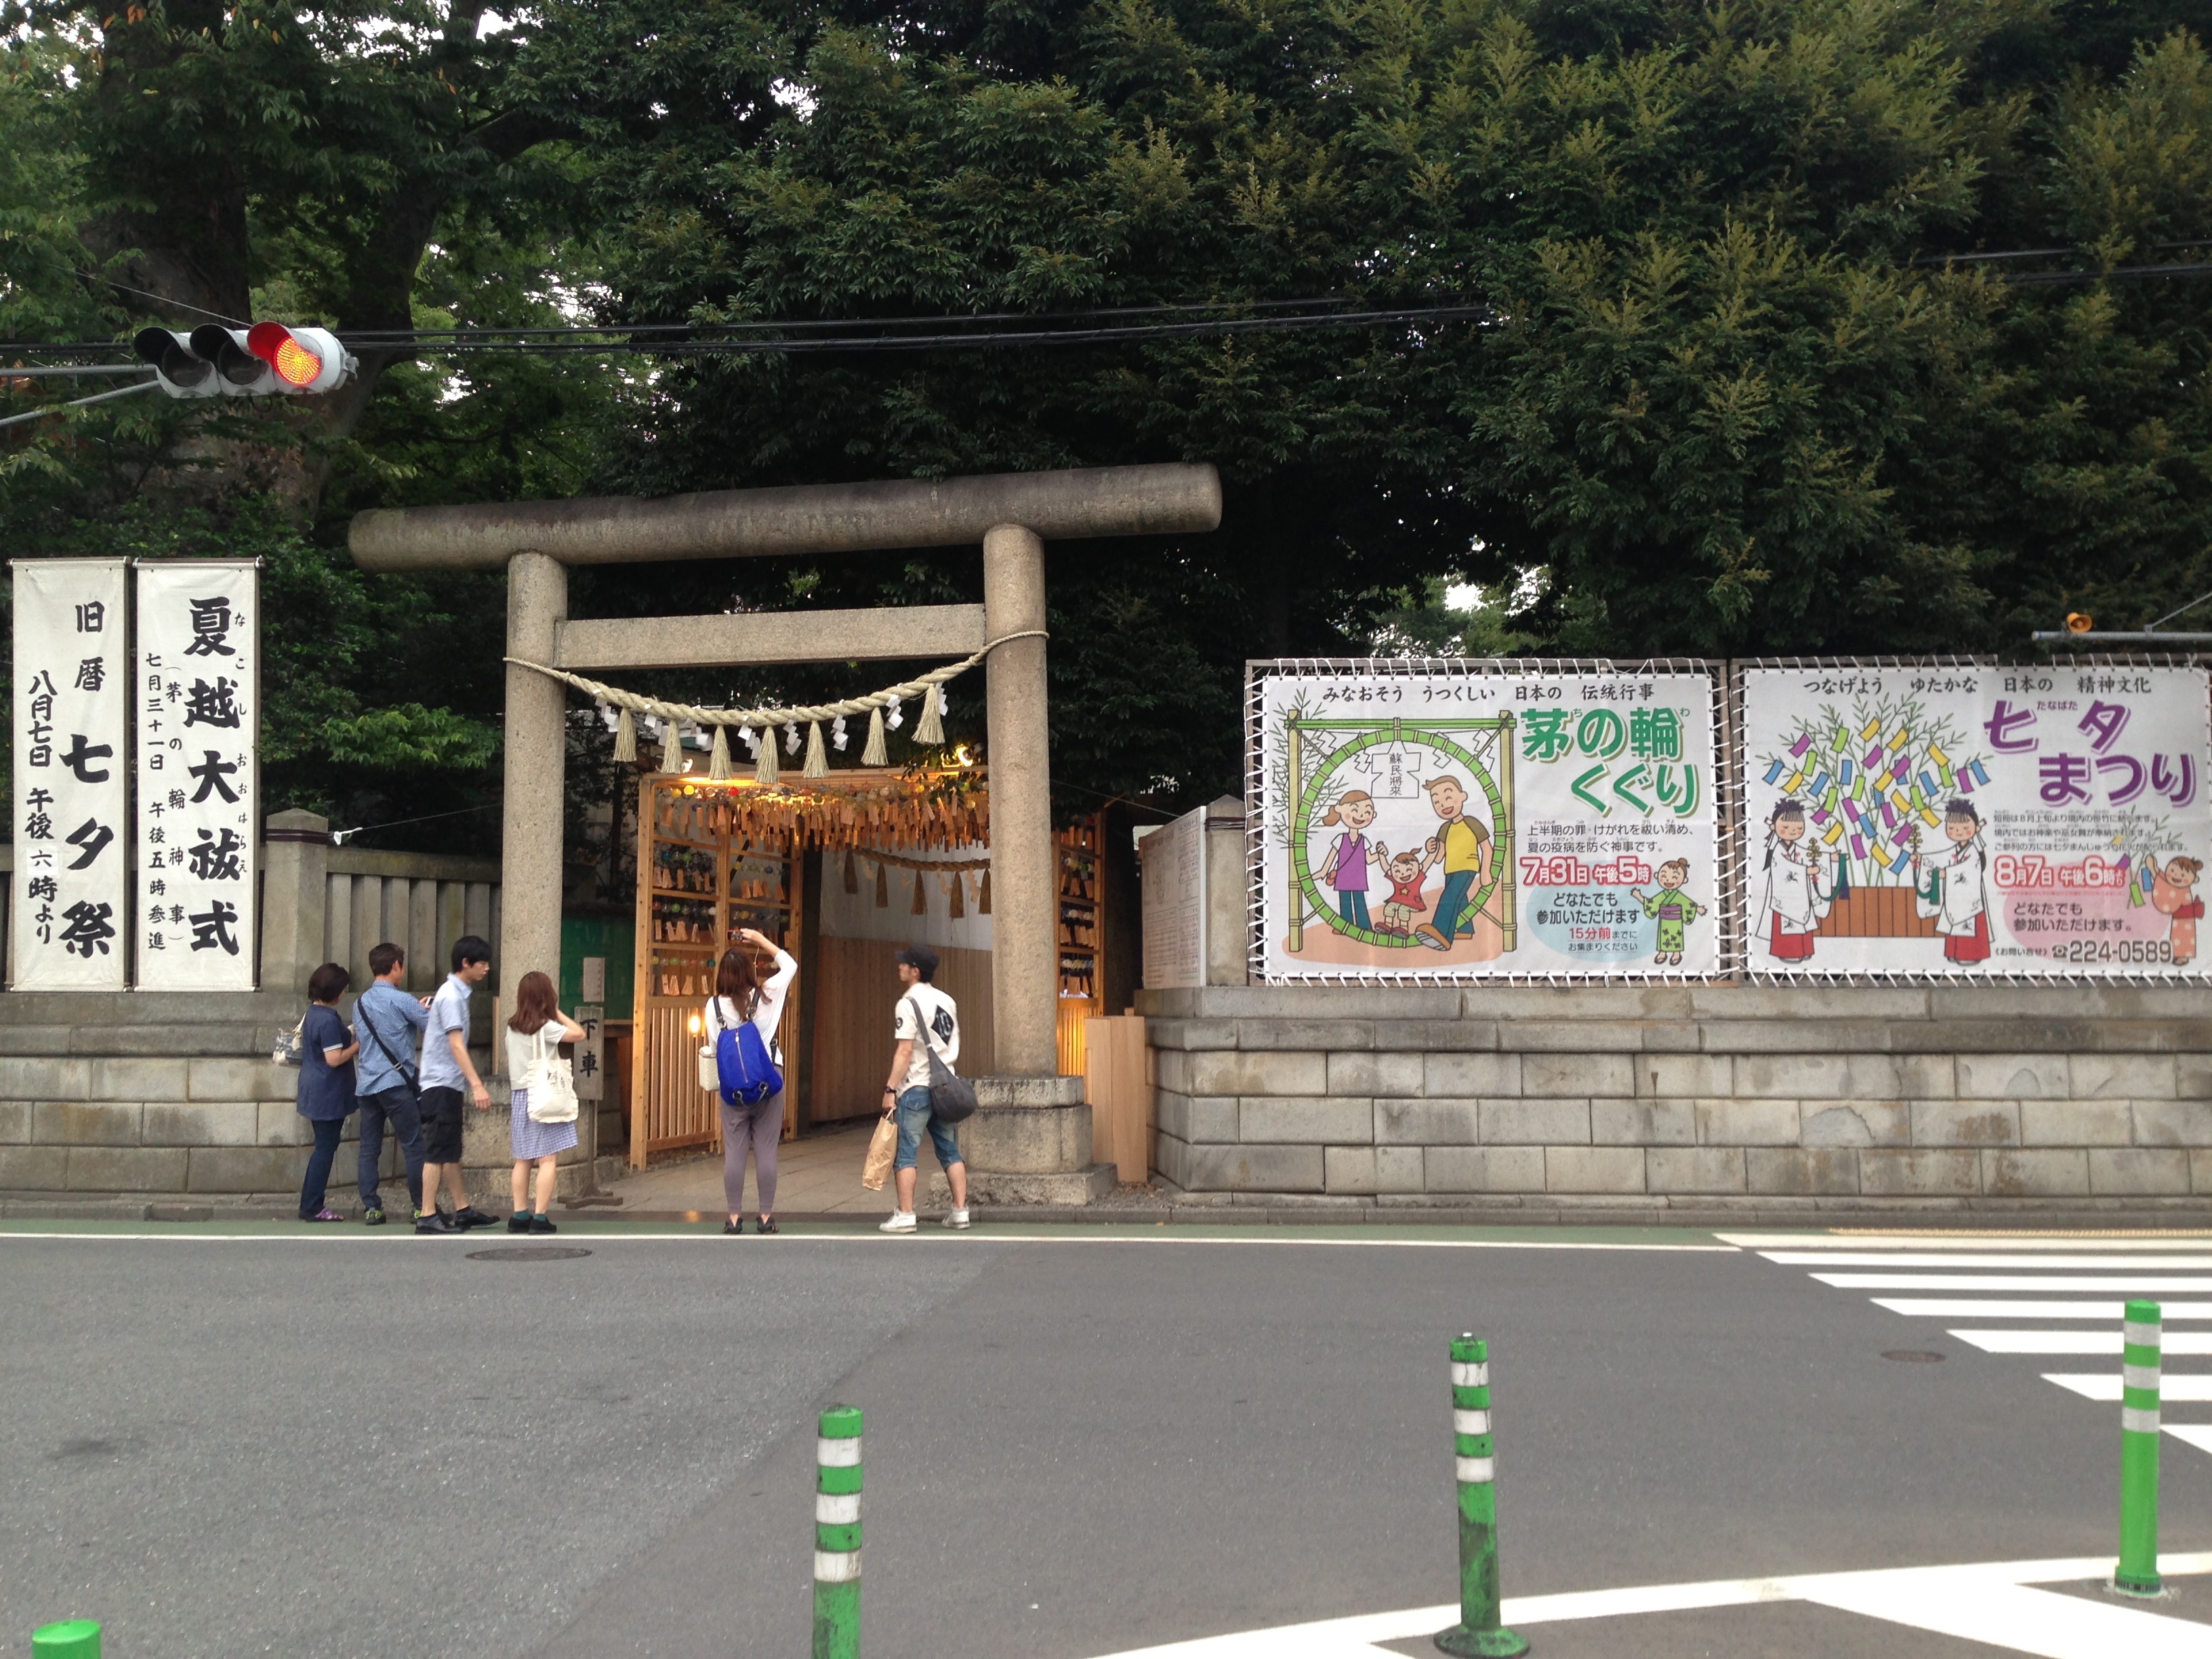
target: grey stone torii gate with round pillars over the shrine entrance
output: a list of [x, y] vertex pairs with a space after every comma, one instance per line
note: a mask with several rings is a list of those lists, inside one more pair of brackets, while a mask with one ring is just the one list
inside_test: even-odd
[[[1057, 1071], [1057, 900], [1046, 730], [1044, 542], [1221, 524], [1210, 465], [987, 473], [945, 482], [728, 489], [661, 500], [407, 507], [354, 518], [363, 571], [507, 568], [507, 655], [593, 672], [991, 653], [991, 995], [998, 1071]], [[571, 564], [982, 544], [982, 604], [568, 619]], [[774, 741], [770, 737], [768, 741]], [[560, 962], [566, 690], [507, 668], [500, 960]], [[1013, 1091], [1024, 1102], [1053, 1091]], [[1077, 1093], [1075, 1099], [1082, 1099]], [[1006, 1104], [1013, 1104], [1009, 1097]], [[1053, 1102], [1066, 1104], [1066, 1102]], [[991, 1168], [991, 1166], [982, 1166]]]

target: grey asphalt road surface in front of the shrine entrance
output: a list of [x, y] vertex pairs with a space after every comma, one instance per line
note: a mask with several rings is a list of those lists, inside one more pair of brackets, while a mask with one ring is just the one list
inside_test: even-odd
[[[515, 1263], [159, 1232], [0, 1237], [0, 1641], [91, 1613], [117, 1659], [801, 1655], [830, 1398], [869, 1413], [869, 1659], [1418, 1610], [1453, 1588], [1455, 1329], [1493, 1340], [1515, 1597], [2112, 1548], [2117, 1407], [2042, 1374], [2117, 1356], [1984, 1352], [1710, 1234], [571, 1225], [591, 1256]], [[2168, 1548], [2212, 1551], [2212, 1455], [2166, 1467]], [[1533, 1635], [2022, 1650], [1874, 1624], [1869, 1584]], [[2205, 1608], [2212, 1577], [2159, 1613]]]

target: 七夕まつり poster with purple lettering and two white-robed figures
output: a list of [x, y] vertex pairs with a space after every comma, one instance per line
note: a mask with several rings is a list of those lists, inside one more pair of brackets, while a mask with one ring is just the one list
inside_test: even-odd
[[2201, 978], [2201, 668], [1747, 668], [1754, 973]]

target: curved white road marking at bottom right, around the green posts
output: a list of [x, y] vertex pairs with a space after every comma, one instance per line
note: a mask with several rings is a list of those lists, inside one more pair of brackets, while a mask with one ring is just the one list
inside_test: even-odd
[[[2212, 1553], [2163, 1555], [2159, 1571], [2168, 1577], [2212, 1573]], [[2017, 1646], [2008, 1637], [2031, 1637], [2042, 1646], [2017, 1646], [2020, 1652], [2044, 1659], [2168, 1659], [2188, 1655], [2203, 1659], [2205, 1626], [2166, 1619], [2137, 1608], [2081, 1601], [2042, 1590], [2031, 1604], [2042, 1617], [2022, 1628], [2022, 1604], [2006, 1593], [2024, 1584], [2062, 1584], [2112, 1575], [2112, 1557], [2077, 1557], [2059, 1562], [1982, 1562], [1966, 1566], [1876, 1568], [1869, 1573], [1805, 1573], [1767, 1579], [1714, 1579], [1705, 1584], [1644, 1584], [1619, 1590], [1571, 1590], [1566, 1595], [1509, 1595], [1504, 1621], [1513, 1628], [1559, 1624], [1566, 1619], [1621, 1619], [1641, 1613], [1699, 1613], [1705, 1608], [1739, 1608], [1767, 1601], [1818, 1601], [1820, 1606], [1863, 1613], [1889, 1624], [1922, 1630], [1951, 1630], [1964, 1617], [1962, 1608], [1986, 1608], [1989, 1628], [1958, 1630], [1973, 1641]], [[2042, 1601], [2064, 1601], [2059, 1613], [2044, 1613]], [[2084, 1613], [2073, 1613], [2081, 1608]], [[2112, 1617], [2101, 1617], [2112, 1615]], [[1407, 1641], [1455, 1624], [1458, 1606], [1402, 1608], [1398, 1613], [1363, 1613], [1352, 1619], [1276, 1626], [1272, 1630], [1239, 1630], [1194, 1641], [1170, 1641], [1155, 1648], [1130, 1648], [1104, 1659], [1376, 1659], [1383, 1641]], [[1938, 1624], [1940, 1619], [1940, 1624]], [[2053, 1646], [2059, 1637], [2075, 1646]], [[2079, 1639], [2079, 1641], [2077, 1641]], [[2168, 1646], [2181, 1644], [2181, 1646]]]

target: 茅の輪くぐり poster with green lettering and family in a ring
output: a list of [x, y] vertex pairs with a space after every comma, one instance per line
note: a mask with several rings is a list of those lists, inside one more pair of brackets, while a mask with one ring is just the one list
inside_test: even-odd
[[1254, 677], [1270, 980], [1717, 969], [1712, 675]]

